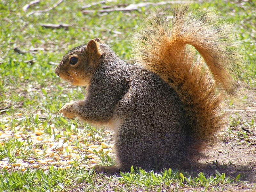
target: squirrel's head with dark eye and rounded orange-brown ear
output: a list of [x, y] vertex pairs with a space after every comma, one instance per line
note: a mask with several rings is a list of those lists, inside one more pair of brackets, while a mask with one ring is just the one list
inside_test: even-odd
[[99, 38], [95, 38], [69, 51], [55, 69], [56, 75], [72, 85], [88, 85], [102, 56], [101, 43]]

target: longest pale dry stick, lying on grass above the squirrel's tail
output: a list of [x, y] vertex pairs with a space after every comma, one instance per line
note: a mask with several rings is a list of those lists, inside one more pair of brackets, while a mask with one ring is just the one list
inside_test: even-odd
[[94, 13], [94, 12], [113, 12], [113, 11], [134, 11], [138, 10], [140, 7], [146, 7], [149, 5], [157, 6], [157, 5], [165, 5], [165, 4], [177, 4], [177, 3], [193, 3], [194, 1], [162, 1], [159, 3], [139, 3], [139, 4], [130, 4], [127, 7], [116, 8], [116, 9], [103, 9], [103, 10], [86, 10], [82, 13]]

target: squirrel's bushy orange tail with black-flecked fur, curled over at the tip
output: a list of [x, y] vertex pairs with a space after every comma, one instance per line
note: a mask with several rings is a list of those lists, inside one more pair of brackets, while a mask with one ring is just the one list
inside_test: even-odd
[[[241, 57], [230, 29], [211, 12], [192, 15], [188, 6], [182, 6], [174, 8], [170, 21], [161, 15], [148, 19], [146, 28], [135, 36], [135, 61], [158, 74], [179, 95], [191, 125], [191, 148], [199, 152], [226, 124], [223, 95], [236, 96], [239, 87]], [[207, 66], [187, 44], [196, 48]]]

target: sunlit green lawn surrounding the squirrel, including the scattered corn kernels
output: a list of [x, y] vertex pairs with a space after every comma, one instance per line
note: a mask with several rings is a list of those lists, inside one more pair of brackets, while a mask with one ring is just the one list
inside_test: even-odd
[[[140, 2], [107, 2], [87, 10]], [[69, 100], [83, 99], [84, 88], [63, 82], [55, 75], [56, 65], [52, 63], [58, 63], [68, 50], [95, 37], [109, 44], [121, 59], [132, 62], [131, 37], [144, 23], [143, 15], [155, 9], [168, 11], [171, 5], [142, 7], [131, 12], [83, 14], [81, 7], [92, 1], [63, 1], [41, 13], [38, 11], [52, 7], [57, 1], [40, 1], [23, 11], [29, 3], [27, 0], [0, 2], [0, 191], [221, 191], [230, 185], [245, 186], [239, 174], [232, 177], [218, 171], [209, 175], [171, 169], [160, 173], [132, 169], [130, 173], [115, 176], [88, 172], [95, 159], [100, 164], [115, 164], [114, 154], [105, 150], [113, 147], [110, 141], [113, 135], [105, 128], [69, 121], [58, 114]], [[255, 87], [255, 3], [214, 0], [192, 3], [191, 8], [197, 9], [199, 5], [216, 9], [221, 17], [234, 23], [234, 33], [244, 52], [246, 70], [241, 75], [250, 89]], [[41, 26], [47, 23], [70, 26], [68, 29]], [[24, 53], [15, 52], [16, 47]], [[254, 129], [254, 121], [255, 116], [244, 121], [239, 116], [230, 118], [225, 137], [238, 139], [240, 145], [242, 141], [250, 145], [241, 124]], [[103, 142], [110, 146], [103, 147]], [[60, 158], [40, 164], [41, 160], [52, 158], [49, 150]]]

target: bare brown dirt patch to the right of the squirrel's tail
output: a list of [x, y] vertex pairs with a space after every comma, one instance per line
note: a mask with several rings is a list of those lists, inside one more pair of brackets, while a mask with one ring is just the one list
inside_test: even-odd
[[[245, 94], [247, 98], [234, 102], [232, 106], [226, 105], [227, 114], [232, 117], [231, 122], [237, 123], [230, 127], [233, 134], [221, 132], [222, 139], [206, 153], [208, 159], [201, 162], [205, 165], [201, 171], [209, 175], [215, 170], [234, 178], [240, 174], [240, 180], [246, 183], [230, 186], [230, 191], [256, 191], [256, 89], [246, 90]], [[248, 124], [252, 119], [254, 126]], [[241, 137], [241, 133], [248, 138]]]

